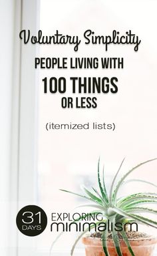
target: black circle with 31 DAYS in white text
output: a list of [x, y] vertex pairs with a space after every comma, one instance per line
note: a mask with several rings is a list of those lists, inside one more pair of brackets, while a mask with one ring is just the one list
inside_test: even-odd
[[47, 215], [37, 205], [27, 205], [17, 214], [17, 227], [29, 237], [40, 235], [47, 227]]

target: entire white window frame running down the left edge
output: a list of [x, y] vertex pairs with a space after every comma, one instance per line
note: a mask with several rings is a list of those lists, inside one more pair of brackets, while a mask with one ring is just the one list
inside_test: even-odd
[[[33, 239], [17, 231], [15, 219], [19, 209], [25, 205], [37, 204], [37, 81], [36, 72], [31, 63], [36, 47], [23, 45], [19, 39], [21, 29], [31, 29], [36, 33], [40, 0], [7, 0], [3, 5], [3, 30], [8, 31], [3, 43], [3, 61], [1, 65], [3, 97], [1, 120], [6, 116], [6, 124], [1, 132], [4, 136], [1, 150], [4, 166], [1, 172], [1, 198], [3, 199], [5, 245], [1, 248], [3, 256], [35, 255]], [[2, 20], [1, 20], [2, 21]], [[9, 52], [9, 53], [8, 53]], [[8, 53], [8, 54], [7, 54]], [[3, 69], [3, 70], [2, 70]], [[5, 82], [5, 84], [3, 83]], [[3, 137], [2, 137], [3, 138]], [[6, 147], [5, 144], [8, 144]], [[1, 200], [2, 201], [2, 200]], [[5, 219], [4, 219], [5, 218]]]

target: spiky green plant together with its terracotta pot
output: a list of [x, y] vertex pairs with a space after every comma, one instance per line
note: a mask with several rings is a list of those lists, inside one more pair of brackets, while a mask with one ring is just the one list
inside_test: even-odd
[[[96, 226], [105, 224], [106, 229], [103, 231], [97, 231], [86, 236], [88, 229], [84, 230], [78, 236], [77, 241], [73, 245], [71, 250], [71, 255], [73, 255], [74, 249], [77, 242], [82, 238], [82, 243], [85, 245], [86, 256], [150, 256], [154, 251], [154, 247], [157, 243], [157, 237], [146, 235], [146, 233], [132, 232], [124, 229], [126, 223], [138, 223], [142, 225], [148, 225], [150, 227], [157, 228], [157, 222], [148, 217], [142, 216], [142, 213], [152, 213], [157, 214], [157, 210], [151, 209], [146, 205], [157, 204], [157, 194], [156, 193], [136, 193], [124, 197], [118, 197], [118, 191], [120, 188], [126, 184], [126, 182], [144, 182], [151, 184], [156, 187], [156, 184], [148, 182], [146, 180], [126, 180], [128, 175], [136, 170], [138, 167], [156, 160], [157, 158], [147, 160], [142, 162], [137, 166], [134, 166], [131, 170], [126, 172], [122, 178], [116, 183], [116, 178], [122, 166], [124, 160], [120, 164], [116, 175], [112, 180], [110, 186], [110, 192], [107, 193], [106, 186], [104, 182], [104, 169], [102, 172], [102, 179], [100, 177], [100, 159], [98, 160], [98, 186], [100, 192], [95, 188], [88, 190], [84, 187], [84, 192], [86, 195], [78, 195], [67, 190], [63, 190], [67, 193], [72, 193], [79, 197], [84, 197], [86, 200], [92, 202], [90, 205], [83, 205], [83, 207], [92, 207], [94, 211], [90, 214], [101, 213], [103, 216], [102, 221], [97, 221]], [[116, 183], [116, 184], [115, 184]], [[78, 219], [77, 221], [82, 221]], [[122, 229], [116, 229], [116, 224], [121, 223]], [[94, 225], [93, 225], [94, 227]], [[114, 227], [114, 228], [113, 228]], [[92, 228], [92, 227], [90, 227]], [[99, 229], [100, 230], [100, 229]]]

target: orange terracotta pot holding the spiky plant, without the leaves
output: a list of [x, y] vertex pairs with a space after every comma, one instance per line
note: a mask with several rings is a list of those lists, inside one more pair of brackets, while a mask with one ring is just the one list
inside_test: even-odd
[[[100, 241], [100, 239], [93, 237], [82, 237], [82, 243], [85, 245], [86, 256], [105, 256], [102, 249], [102, 241]], [[130, 241], [130, 245], [132, 246], [134, 255], [136, 256], [152, 256], [156, 243], [157, 237]], [[112, 239], [108, 239], [107, 245], [109, 255], [117, 256]], [[130, 252], [128, 251], [124, 241], [120, 241], [120, 247], [123, 256], [130, 256]]]

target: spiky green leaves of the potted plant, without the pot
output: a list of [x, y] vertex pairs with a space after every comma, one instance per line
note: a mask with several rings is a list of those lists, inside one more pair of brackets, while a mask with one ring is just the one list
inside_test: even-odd
[[[131, 179], [126, 180], [128, 175], [136, 170], [138, 167], [151, 162], [153, 160], [156, 160], [157, 158], [147, 160], [146, 162], [142, 162], [131, 170], [128, 170], [122, 178], [118, 182], [116, 182], [116, 178], [118, 176], [118, 173], [120, 171], [120, 168], [124, 162], [124, 159], [122, 160], [120, 167], [118, 168], [118, 171], [116, 172], [116, 175], [114, 176], [112, 180], [112, 184], [110, 186], [110, 191], [107, 193], [106, 185], [104, 182], [104, 168], [102, 171], [102, 179], [100, 177], [100, 159], [98, 160], [98, 186], [100, 189], [100, 192], [96, 190], [95, 188], [92, 188], [91, 190], [88, 190], [85, 186], [83, 187], [85, 195], [79, 195], [77, 193], [73, 193], [68, 190], [63, 190], [64, 192], [71, 193], [73, 195], [77, 195], [78, 197], [82, 197], [92, 203], [90, 205], [83, 205], [86, 207], [92, 207], [95, 209], [96, 212], [101, 213], [104, 216], [104, 222], [111, 221], [113, 225], [120, 221], [120, 223], [126, 223], [128, 220], [130, 220], [130, 223], [133, 221], [136, 221], [138, 224], [144, 224], [148, 225], [154, 228], [157, 228], [157, 222], [155, 220], [149, 219], [147, 217], [142, 216], [142, 213], [153, 213], [157, 214], [157, 211], [155, 209], [150, 209], [149, 207], [146, 207], [146, 205], [149, 204], [157, 204], [157, 193], [136, 193], [124, 197], [118, 197], [118, 192], [120, 188], [127, 182], [144, 182], [147, 184], [150, 184], [152, 186], [156, 186], [156, 184], [153, 184], [152, 182], [148, 182], [146, 180], [139, 180], [139, 179]], [[89, 214], [94, 213], [92, 211]], [[82, 221], [82, 219], [78, 219], [78, 221]], [[96, 223], [98, 225], [100, 222]], [[77, 245], [77, 242], [79, 239], [88, 232], [88, 229], [86, 229], [83, 233], [81, 233], [75, 241], [75, 244], [73, 245], [73, 248], [71, 250], [71, 256], [73, 255], [74, 249]], [[112, 239], [114, 242], [114, 246], [116, 248], [116, 252], [118, 256], [122, 256], [122, 252], [120, 249], [120, 241], [117, 239], [118, 232], [113, 229], [112, 231]], [[122, 238], [124, 239], [124, 242], [126, 243], [126, 246], [128, 247], [128, 250], [130, 251], [130, 255], [134, 255], [134, 252], [132, 250], [132, 247], [130, 246], [129, 240], [127, 239], [126, 231], [122, 230], [120, 231]], [[105, 231], [102, 231], [102, 247], [104, 250], [104, 254], [106, 256], [109, 255], [108, 253], [108, 247], [107, 247], [107, 237], [108, 237], [108, 229]]]

